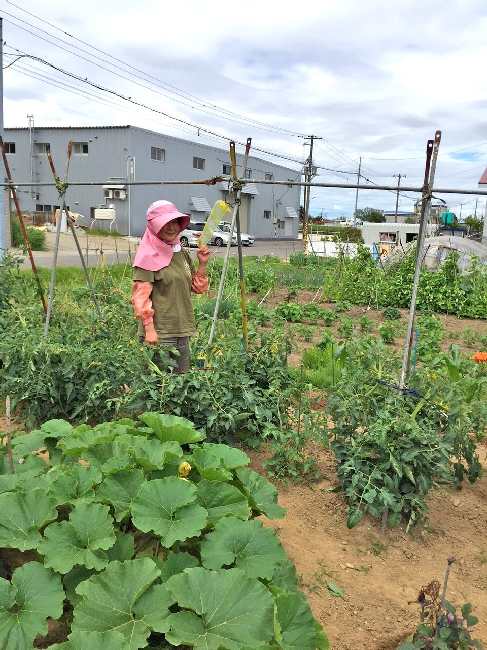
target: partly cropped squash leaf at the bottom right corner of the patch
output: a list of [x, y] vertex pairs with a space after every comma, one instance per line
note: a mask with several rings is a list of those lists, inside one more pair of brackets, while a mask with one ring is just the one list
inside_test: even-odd
[[282, 650], [316, 650], [315, 623], [311, 609], [297, 594], [278, 596], [276, 641]]

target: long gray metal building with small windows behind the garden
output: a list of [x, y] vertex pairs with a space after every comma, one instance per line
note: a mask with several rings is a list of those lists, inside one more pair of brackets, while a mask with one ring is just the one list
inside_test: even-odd
[[[232, 200], [226, 182], [210, 186], [129, 184], [229, 177], [228, 150], [135, 126], [51, 128], [30, 124], [28, 128], [5, 128], [5, 149], [13, 183], [52, 182], [52, 185], [19, 187], [22, 211], [48, 216], [59, 207], [46, 149], [50, 149], [56, 172], [62, 179], [69, 140], [73, 141], [73, 150], [68, 182], [103, 183], [68, 187], [67, 207], [82, 215], [79, 221], [82, 225], [90, 225], [95, 215], [103, 214], [95, 210], [112, 208], [116, 230], [137, 236], [144, 232], [147, 207], [157, 199], [172, 201], [179, 210], [190, 214], [193, 221], [205, 221], [215, 201]], [[237, 155], [239, 169], [241, 163], [242, 156]], [[263, 239], [297, 238], [300, 187], [258, 185], [251, 181], [296, 181], [300, 172], [249, 156], [246, 178], [249, 183], [243, 190], [240, 209], [242, 231]]]

